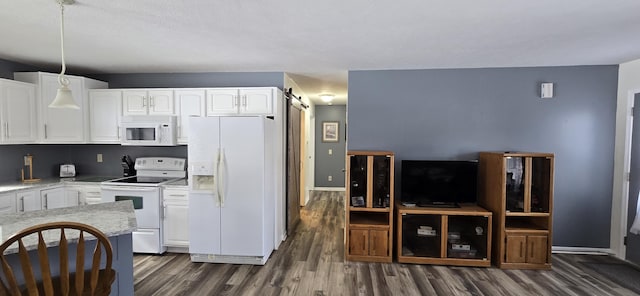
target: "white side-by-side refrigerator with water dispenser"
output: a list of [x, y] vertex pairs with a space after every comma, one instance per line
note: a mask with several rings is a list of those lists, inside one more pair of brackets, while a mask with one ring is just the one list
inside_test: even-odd
[[275, 232], [274, 120], [189, 120], [191, 261], [265, 264]]

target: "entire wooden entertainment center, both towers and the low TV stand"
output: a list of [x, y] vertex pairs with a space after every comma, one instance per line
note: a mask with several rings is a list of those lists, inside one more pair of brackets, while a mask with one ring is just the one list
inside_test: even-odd
[[395, 229], [400, 263], [550, 269], [553, 172], [551, 153], [480, 152], [477, 205], [419, 207], [394, 201], [393, 152], [349, 151], [345, 257], [391, 262]]

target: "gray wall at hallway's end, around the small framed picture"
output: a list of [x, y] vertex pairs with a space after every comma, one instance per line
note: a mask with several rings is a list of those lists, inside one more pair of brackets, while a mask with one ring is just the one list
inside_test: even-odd
[[[338, 121], [337, 143], [322, 142], [322, 122]], [[316, 105], [316, 146], [315, 146], [315, 186], [316, 187], [344, 187], [345, 168], [345, 123], [347, 121], [347, 107], [345, 105]], [[332, 154], [329, 155], [329, 149]], [[332, 177], [332, 181], [328, 180]]]

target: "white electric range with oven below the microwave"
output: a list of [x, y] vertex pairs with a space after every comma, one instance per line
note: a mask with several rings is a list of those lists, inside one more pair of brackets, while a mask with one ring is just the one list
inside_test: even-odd
[[135, 169], [136, 176], [102, 182], [102, 202], [131, 200], [138, 224], [132, 235], [133, 252], [161, 254], [166, 247], [162, 243], [160, 186], [185, 177], [185, 159], [139, 157]]

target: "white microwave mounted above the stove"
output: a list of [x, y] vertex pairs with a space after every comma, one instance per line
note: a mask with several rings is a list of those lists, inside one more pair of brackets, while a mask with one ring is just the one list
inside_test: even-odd
[[122, 117], [122, 145], [175, 146], [176, 117], [163, 115], [132, 115]]

